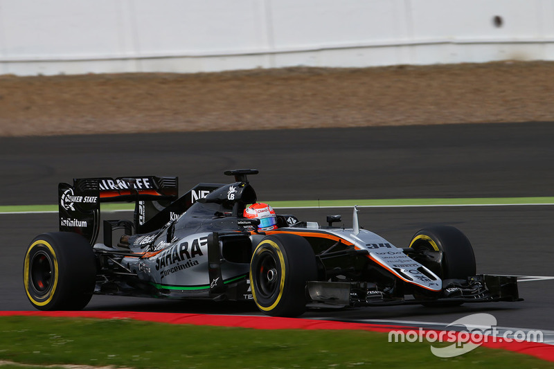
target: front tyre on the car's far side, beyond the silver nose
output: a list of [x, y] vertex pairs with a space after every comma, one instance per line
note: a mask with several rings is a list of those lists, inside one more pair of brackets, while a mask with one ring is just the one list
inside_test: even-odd
[[[443, 257], [435, 262], [421, 262], [442, 280], [467, 279], [476, 275], [475, 254], [465, 235], [452, 226], [432, 226], [413, 235], [410, 248], [415, 250], [442, 251]], [[420, 261], [420, 260], [418, 260]], [[459, 301], [436, 301], [424, 303], [429, 307], [458, 306]]]

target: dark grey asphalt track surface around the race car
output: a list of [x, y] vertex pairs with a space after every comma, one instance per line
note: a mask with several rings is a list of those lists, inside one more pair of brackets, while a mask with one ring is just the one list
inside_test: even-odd
[[[57, 183], [78, 177], [178, 175], [181, 192], [222, 172], [258, 168], [259, 199], [390, 199], [554, 195], [554, 124], [482, 124], [291, 131], [0, 138], [0, 205], [55, 204]], [[323, 223], [350, 209], [280, 210]], [[118, 213], [124, 215], [124, 213]], [[56, 231], [55, 214], [0, 215], [1, 310], [33, 309], [21, 271], [28, 242]], [[478, 273], [554, 276], [554, 206], [364, 208], [360, 224], [396, 246], [430, 224], [470, 238]], [[521, 282], [519, 303], [310, 310], [346, 321], [451, 323], [477, 312], [499, 326], [554, 330], [554, 280]], [[87, 310], [260, 314], [248, 303], [93, 296]]]

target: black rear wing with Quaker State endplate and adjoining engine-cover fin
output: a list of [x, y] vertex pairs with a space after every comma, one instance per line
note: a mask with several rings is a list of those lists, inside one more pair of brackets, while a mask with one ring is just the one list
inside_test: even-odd
[[94, 244], [100, 231], [100, 203], [134, 202], [133, 222], [127, 221], [122, 226], [121, 222], [104, 221], [104, 231], [111, 235], [111, 228], [119, 227], [127, 231], [134, 228], [134, 233], [147, 233], [161, 228], [184, 213], [197, 199], [221, 186], [199, 183], [179, 198], [177, 177], [73, 179], [73, 186], [69, 183], [58, 185], [60, 231], [78, 233]]

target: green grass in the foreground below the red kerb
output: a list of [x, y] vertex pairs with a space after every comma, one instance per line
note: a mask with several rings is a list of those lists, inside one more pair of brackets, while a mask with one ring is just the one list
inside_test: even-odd
[[[449, 345], [449, 343], [433, 343]], [[124, 319], [0, 318], [0, 359], [127, 368], [551, 368], [552, 363], [476, 348], [451, 359], [431, 343], [388, 343], [365, 331], [252, 330]], [[17, 367], [17, 366], [16, 366]]]

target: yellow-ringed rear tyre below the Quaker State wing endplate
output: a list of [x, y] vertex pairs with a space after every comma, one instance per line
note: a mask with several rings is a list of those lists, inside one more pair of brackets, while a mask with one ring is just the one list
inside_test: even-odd
[[39, 310], [80, 310], [91, 300], [96, 260], [76, 233], [44, 233], [30, 243], [23, 265], [27, 298]]

